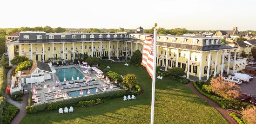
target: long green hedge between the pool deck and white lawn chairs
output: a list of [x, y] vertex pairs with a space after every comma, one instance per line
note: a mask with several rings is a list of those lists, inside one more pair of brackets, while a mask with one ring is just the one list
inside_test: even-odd
[[[75, 97], [72, 99], [64, 99], [64, 100], [59, 100], [59, 101], [54, 101], [54, 102], [50, 102], [50, 103], [41, 103], [41, 104], [35, 104], [32, 106], [27, 106], [26, 110], [27, 113], [35, 113], [35, 112], [40, 112], [40, 111], [45, 111], [47, 110], [47, 107], [49, 105], [51, 106], [74, 106], [75, 104], [79, 103], [80, 101], [85, 101], [85, 100], [94, 100], [94, 99], [112, 99], [115, 97], [121, 97], [126, 95], [127, 92], [124, 89], [121, 90], [115, 90], [115, 91], [111, 91], [111, 92], [105, 92], [105, 93], [97, 93], [97, 94], [92, 94], [92, 95], [88, 95], [88, 96], [80, 96], [80, 97]], [[58, 107], [59, 107], [58, 106]]]

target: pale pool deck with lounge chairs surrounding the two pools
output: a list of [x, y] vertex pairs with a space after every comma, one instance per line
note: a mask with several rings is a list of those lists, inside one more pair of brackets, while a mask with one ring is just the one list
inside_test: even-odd
[[[81, 74], [84, 74], [81, 71], [81, 68], [79, 68], [78, 65], [59, 66], [59, 67], [54, 67], [54, 68], [58, 69], [58, 68], [73, 68], [73, 67], [78, 69], [81, 72]], [[37, 84], [37, 85], [41, 86], [41, 89], [37, 89], [37, 93], [38, 94], [36, 95], [36, 96], [38, 96], [38, 99], [40, 99], [40, 100], [39, 100], [39, 102], [34, 103], [34, 104], [39, 104], [39, 103], [44, 103], [44, 102], [52, 102], [52, 101], [63, 100], [63, 99], [72, 99], [71, 97], [68, 96], [67, 92], [77, 91], [77, 90], [81, 90], [81, 89], [88, 89], [88, 88], [99, 87], [99, 89], [102, 91], [102, 93], [115, 90], [114, 88], [110, 89], [109, 88], [110, 86], [106, 83], [107, 90], [103, 91], [103, 81], [101, 81], [100, 78], [95, 76], [92, 73], [92, 71], [90, 71], [89, 74], [91, 74], [91, 78], [90, 79], [96, 79], [95, 82], [98, 83], [98, 84], [92, 85], [92, 84], [90, 84], [90, 82], [91, 82], [90, 81], [88, 83], [78, 83], [78, 85], [80, 85], [80, 87], [64, 88], [67, 85], [66, 85], [66, 82], [63, 81], [63, 82], [59, 82], [58, 83], [58, 85], [61, 85], [61, 86], [59, 86], [59, 87], [61, 87], [61, 92], [58, 92], [58, 86], [55, 87], [55, 90], [53, 90], [53, 85], [57, 85], [56, 84], [56, 80], [58, 79], [57, 75], [54, 74], [54, 80], [53, 79], [46, 80], [45, 82], [41, 82], [41, 83]], [[88, 75], [88, 74], [84, 74], [84, 75]], [[81, 80], [74, 80], [74, 81], [83, 82], [83, 79], [81, 79]], [[74, 81], [69, 81], [69, 83], [70, 82], [74, 82]], [[47, 84], [47, 88], [44, 88], [44, 83]], [[78, 86], [78, 85], [76, 85], [76, 86]], [[81, 85], [86, 85], [86, 86], [81, 87]], [[35, 86], [36, 86], [36, 84], [33, 84], [33, 87], [35, 87]], [[73, 84], [69, 84], [68, 86], [74, 86], [74, 83]], [[47, 93], [48, 87], [50, 87], [51, 93]], [[30, 86], [30, 88], [31, 88], [31, 86]], [[63, 92], [64, 91], [66, 92], [66, 95], [67, 95], [66, 98], [63, 97]], [[54, 93], [57, 94], [57, 99], [54, 99]], [[33, 102], [34, 102], [34, 99], [33, 99]]]

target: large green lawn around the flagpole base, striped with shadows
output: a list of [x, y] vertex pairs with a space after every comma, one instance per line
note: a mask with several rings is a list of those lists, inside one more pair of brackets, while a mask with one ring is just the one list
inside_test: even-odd
[[[152, 81], [147, 71], [117, 62], [109, 65], [119, 74], [135, 74], [144, 93], [136, 96], [136, 100], [116, 98], [100, 105], [74, 108], [74, 113], [60, 115], [54, 110], [28, 114], [21, 124], [149, 124]], [[155, 88], [155, 124], [227, 124], [216, 109], [187, 85], [163, 79], [156, 81]]]

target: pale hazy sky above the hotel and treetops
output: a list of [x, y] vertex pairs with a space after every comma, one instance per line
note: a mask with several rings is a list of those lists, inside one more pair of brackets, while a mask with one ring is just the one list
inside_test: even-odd
[[0, 27], [256, 30], [256, 0], [1, 0]]

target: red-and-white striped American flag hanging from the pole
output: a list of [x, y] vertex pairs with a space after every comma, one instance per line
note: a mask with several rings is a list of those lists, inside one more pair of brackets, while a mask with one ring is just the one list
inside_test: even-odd
[[142, 51], [142, 62], [141, 65], [147, 68], [148, 74], [153, 79], [154, 72], [154, 36], [148, 35], [145, 38]]

